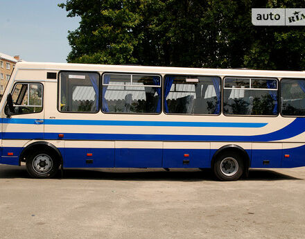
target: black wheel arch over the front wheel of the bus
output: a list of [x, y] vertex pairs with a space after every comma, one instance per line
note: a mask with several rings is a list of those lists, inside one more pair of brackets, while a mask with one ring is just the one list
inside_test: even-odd
[[34, 143], [30, 143], [26, 146], [26, 148], [21, 151], [21, 154], [19, 156], [19, 166], [21, 165], [22, 161], [26, 161], [26, 157], [30, 154], [30, 152], [35, 149], [42, 150], [42, 148], [55, 152], [56, 156], [58, 156], [58, 159], [60, 159], [60, 163], [62, 163], [62, 153], [60, 152], [60, 150], [58, 150], [58, 148], [55, 147], [55, 145], [46, 141], [36, 141]]

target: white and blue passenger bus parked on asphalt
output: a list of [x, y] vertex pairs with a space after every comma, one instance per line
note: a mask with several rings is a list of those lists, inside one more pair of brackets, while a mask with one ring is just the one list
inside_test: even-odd
[[305, 72], [18, 62], [0, 163], [62, 168], [305, 166]]

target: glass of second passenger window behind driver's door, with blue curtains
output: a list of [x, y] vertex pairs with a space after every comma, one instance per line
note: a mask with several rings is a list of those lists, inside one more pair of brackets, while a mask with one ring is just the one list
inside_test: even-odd
[[105, 113], [161, 112], [161, 77], [138, 74], [103, 75]]

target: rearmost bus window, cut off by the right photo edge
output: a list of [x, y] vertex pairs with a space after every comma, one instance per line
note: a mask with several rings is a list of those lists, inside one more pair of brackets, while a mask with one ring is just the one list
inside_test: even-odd
[[305, 79], [281, 80], [281, 114], [305, 116]]

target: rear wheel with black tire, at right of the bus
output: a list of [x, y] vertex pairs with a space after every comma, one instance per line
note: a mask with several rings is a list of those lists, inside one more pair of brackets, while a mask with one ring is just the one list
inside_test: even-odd
[[214, 174], [221, 181], [234, 181], [243, 175], [245, 163], [237, 152], [220, 153], [214, 162]]

